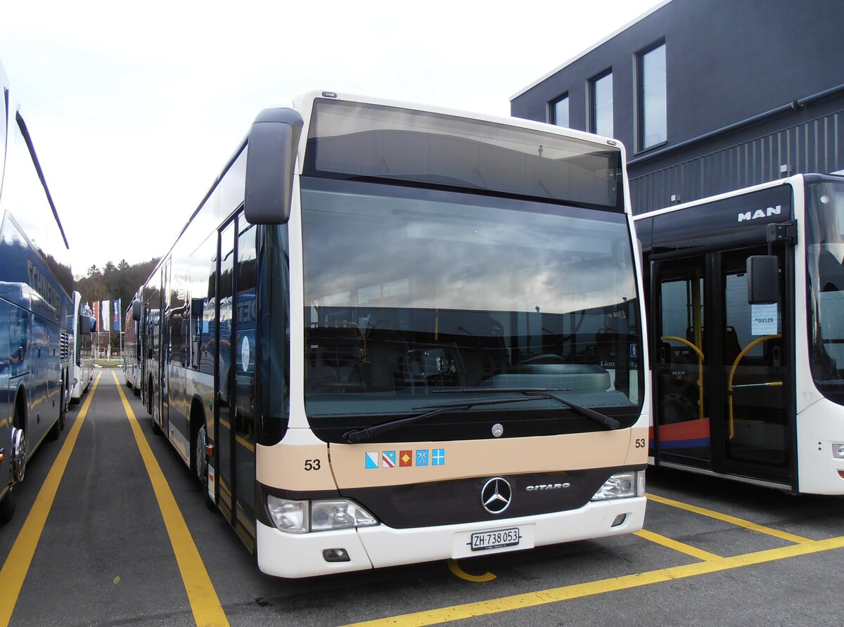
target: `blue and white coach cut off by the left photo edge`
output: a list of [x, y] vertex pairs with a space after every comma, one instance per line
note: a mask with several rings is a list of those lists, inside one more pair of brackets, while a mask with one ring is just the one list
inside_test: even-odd
[[28, 457], [62, 430], [70, 396], [68, 241], [0, 65], [0, 522]]

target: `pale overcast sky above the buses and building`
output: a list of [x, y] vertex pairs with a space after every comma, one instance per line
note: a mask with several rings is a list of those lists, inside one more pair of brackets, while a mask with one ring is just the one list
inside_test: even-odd
[[261, 109], [327, 89], [507, 116], [662, 0], [0, 0], [0, 61], [73, 272], [169, 249]]

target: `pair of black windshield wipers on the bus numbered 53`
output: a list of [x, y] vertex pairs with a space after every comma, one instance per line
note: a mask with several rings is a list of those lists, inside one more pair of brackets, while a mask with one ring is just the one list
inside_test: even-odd
[[[600, 424], [605, 429], [618, 429], [621, 425], [619, 421], [610, 418], [609, 416], [604, 415], [603, 413], [596, 412], [593, 409], [583, 407], [582, 405], [577, 405], [575, 403], [571, 403], [571, 401], [566, 401], [565, 398], [560, 398], [555, 394], [552, 394], [549, 390], [544, 389], [542, 387], [462, 387], [456, 388], [454, 390], [440, 390], [435, 393], [469, 393], [469, 394], [476, 394], [480, 392], [511, 392], [516, 394], [523, 394], [528, 398], [546, 398], [551, 401], [556, 401], [557, 403], [561, 403], [565, 405], [567, 408], [571, 409], [572, 412], [576, 413], [578, 416], [582, 418], [586, 418], [592, 420]], [[502, 405], [504, 403], [522, 403], [527, 399], [525, 398], [477, 398], [474, 400], [457, 402], [457, 403], [442, 403], [441, 405], [433, 405], [428, 407], [430, 411], [425, 413], [419, 413], [414, 416], [408, 416], [408, 418], [400, 418], [398, 420], [390, 420], [385, 423], [376, 424], [372, 427], [365, 427], [363, 429], [354, 429], [350, 431], [346, 431], [343, 434], [343, 439], [349, 444], [357, 444], [358, 442], [362, 442], [365, 440], [371, 440], [373, 437], [378, 435], [379, 433], [386, 433], [388, 431], [392, 431], [398, 429], [399, 427], [403, 427], [405, 424], [413, 424], [414, 422], [418, 422], [419, 420], [424, 420], [426, 418], [431, 418], [432, 416], [438, 416], [441, 413], [451, 412], [455, 410], [460, 411], [468, 411], [469, 409], [479, 406], [479, 405]], [[414, 409], [422, 409], [422, 408], [414, 408]]]

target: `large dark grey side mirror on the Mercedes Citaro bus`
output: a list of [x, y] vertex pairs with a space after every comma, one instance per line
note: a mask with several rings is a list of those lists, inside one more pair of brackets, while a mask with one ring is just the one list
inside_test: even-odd
[[305, 122], [293, 109], [264, 109], [246, 141], [243, 211], [250, 224], [286, 224], [296, 151]]

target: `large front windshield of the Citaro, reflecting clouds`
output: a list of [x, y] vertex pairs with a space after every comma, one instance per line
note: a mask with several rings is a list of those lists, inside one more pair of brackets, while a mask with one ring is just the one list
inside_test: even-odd
[[506, 401], [390, 437], [445, 439], [454, 424], [489, 437], [468, 424], [490, 419], [520, 422], [522, 435], [601, 429], [553, 398], [501, 393], [525, 388], [635, 422], [641, 330], [624, 214], [314, 177], [300, 187], [317, 435], [342, 441], [487, 391]]

